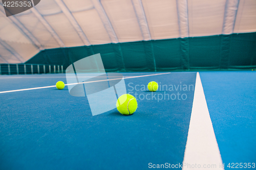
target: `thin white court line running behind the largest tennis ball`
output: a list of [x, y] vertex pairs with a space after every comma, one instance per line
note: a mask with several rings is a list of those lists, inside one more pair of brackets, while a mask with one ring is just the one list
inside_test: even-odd
[[[140, 78], [140, 77], [148, 77], [148, 76], [159, 76], [159, 75], [167, 75], [167, 74], [170, 74], [170, 72], [163, 72], [163, 73], [160, 73], [160, 74], [153, 74], [153, 75], [124, 77], [124, 78], [118, 78], [118, 79], [111, 79], [111, 81], [112, 80], [120, 80], [120, 79], [133, 79], [133, 78]], [[82, 82], [82, 83], [71, 83], [71, 84], [65, 84], [65, 85], [69, 86], [69, 85], [87, 84], [87, 83], [95, 83], [95, 82], [103, 82], [103, 81], [108, 81], [108, 80], [97, 80], [97, 81]], [[34, 88], [25, 88], [25, 89], [18, 89], [18, 90], [0, 91], [0, 93], [10, 93], [10, 92], [17, 92], [17, 91], [36, 90], [36, 89], [44, 89], [44, 88], [52, 88], [52, 87], [56, 87], [56, 86], [54, 85], [54, 86], [34, 87]]]

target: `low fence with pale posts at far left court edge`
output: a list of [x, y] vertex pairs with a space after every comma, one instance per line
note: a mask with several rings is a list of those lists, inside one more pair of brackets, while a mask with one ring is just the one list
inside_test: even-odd
[[63, 65], [0, 64], [0, 75], [29, 75], [63, 73]]

